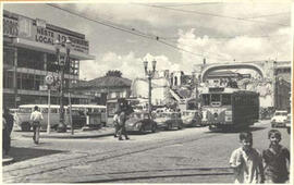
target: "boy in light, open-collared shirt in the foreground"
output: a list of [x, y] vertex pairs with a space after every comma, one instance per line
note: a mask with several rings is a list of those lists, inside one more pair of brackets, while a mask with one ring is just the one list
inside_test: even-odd
[[235, 149], [230, 158], [230, 165], [234, 169], [235, 184], [258, 184], [265, 182], [262, 157], [253, 148], [253, 134], [240, 133], [241, 147]]

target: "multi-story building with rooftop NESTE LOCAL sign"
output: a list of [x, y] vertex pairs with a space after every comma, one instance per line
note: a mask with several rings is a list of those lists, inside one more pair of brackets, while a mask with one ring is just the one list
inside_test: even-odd
[[[85, 35], [3, 11], [3, 106], [15, 108], [24, 103], [47, 103], [45, 76], [59, 78], [60, 66], [65, 60], [66, 39], [71, 40], [70, 62], [64, 66], [65, 87], [78, 81], [79, 62], [94, 59], [89, 55], [89, 42]], [[56, 40], [62, 42], [60, 60], [57, 60]], [[60, 61], [60, 63], [58, 63]], [[45, 89], [45, 90], [42, 90]], [[60, 102], [58, 88], [53, 88], [51, 103]], [[71, 95], [72, 103], [87, 103], [86, 95]], [[66, 104], [68, 94], [64, 94]]]

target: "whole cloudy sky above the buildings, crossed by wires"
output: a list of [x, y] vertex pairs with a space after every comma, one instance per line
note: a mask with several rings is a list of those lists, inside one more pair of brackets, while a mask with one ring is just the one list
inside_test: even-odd
[[204, 58], [207, 63], [291, 61], [289, 1], [78, 1], [53, 5], [4, 3], [3, 9], [85, 34], [95, 60], [81, 61], [81, 79], [103, 76], [109, 70], [120, 70], [131, 79], [144, 77], [145, 60], [149, 67], [156, 60], [157, 70], [185, 74]]

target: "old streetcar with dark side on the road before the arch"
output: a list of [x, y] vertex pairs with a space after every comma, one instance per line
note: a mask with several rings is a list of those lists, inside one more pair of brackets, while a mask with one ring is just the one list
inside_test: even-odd
[[254, 125], [259, 118], [259, 94], [231, 87], [207, 87], [200, 94], [203, 124], [209, 130]]

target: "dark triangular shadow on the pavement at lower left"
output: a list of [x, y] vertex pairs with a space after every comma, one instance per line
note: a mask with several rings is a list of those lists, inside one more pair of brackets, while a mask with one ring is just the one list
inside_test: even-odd
[[54, 153], [64, 152], [61, 150], [48, 150], [48, 149], [37, 149], [37, 148], [19, 148], [11, 147], [9, 156], [12, 157], [14, 162], [21, 162], [33, 158], [39, 158], [42, 156], [49, 156]]

